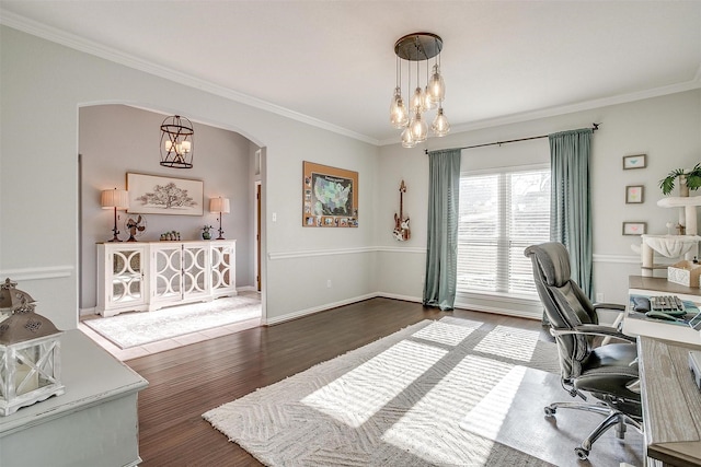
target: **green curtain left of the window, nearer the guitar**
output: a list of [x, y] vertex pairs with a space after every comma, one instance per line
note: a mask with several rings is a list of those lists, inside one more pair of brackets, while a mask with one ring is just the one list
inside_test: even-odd
[[428, 153], [428, 252], [424, 305], [452, 310], [458, 272], [460, 150]]

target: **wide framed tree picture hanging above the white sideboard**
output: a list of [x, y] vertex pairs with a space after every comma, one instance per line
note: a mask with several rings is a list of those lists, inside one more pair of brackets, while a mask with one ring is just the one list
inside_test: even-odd
[[189, 178], [127, 173], [129, 208], [139, 214], [203, 215], [204, 183]]

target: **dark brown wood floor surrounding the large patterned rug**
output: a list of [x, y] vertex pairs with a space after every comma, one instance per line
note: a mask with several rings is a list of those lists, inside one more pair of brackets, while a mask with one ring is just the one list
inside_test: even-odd
[[[139, 393], [141, 465], [260, 466], [202, 415], [411, 324], [446, 315], [542, 329], [538, 320], [371, 299], [129, 360], [126, 364], [149, 381]], [[541, 339], [550, 339], [547, 331]]]

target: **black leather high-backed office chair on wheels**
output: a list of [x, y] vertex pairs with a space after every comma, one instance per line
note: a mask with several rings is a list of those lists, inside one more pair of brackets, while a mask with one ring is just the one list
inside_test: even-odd
[[[601, 413], [606, 418], [575, 447], [581, 459], [589, 456], [591, 444], [609, 428], [616, 427], [619, 439], [631, 424], [642, 432], [642, 409], [637, 375], [635, 338], [618, 329], [599, 326], [597, 310], [624, 311], [623, 305], [594, 305], [570, 277], [570, 255], [564, 245], [555, 242], [532, 245], [524, 254], [533, 266], [533, 280], [550, 322], [550, 334], [555, 338], [560, 355], [562, 386], [572, 397], [583, 392], [598, 399], [554, 402], [544, 408], [547, 417], [558, 409], [576, 409]], [[597, 336], [622, 339], [623, 343], [595, 347]]]

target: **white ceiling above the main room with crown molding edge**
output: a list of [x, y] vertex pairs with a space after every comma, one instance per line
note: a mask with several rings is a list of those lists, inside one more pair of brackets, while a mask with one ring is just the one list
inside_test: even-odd
[[453, 132], [701, 87], [700, 0], [1, 0], [0, 22], [380, 144], [417, 31], [444, 39]]

